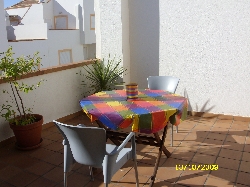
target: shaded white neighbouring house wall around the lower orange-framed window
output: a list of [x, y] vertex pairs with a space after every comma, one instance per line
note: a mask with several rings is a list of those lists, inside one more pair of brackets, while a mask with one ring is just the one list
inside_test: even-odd
[[88, 53], [87, 56], [84, 56], [79, 34], [78, 30], [49, 30], [48, 40], [9, 42], [9, 45], [13, 46], [13, 51], [16, 53], [15, 57], [32, 55], [39, 51], [43, 64], [41, 68], [47, 68], [59, 65], [58, 50], [71, 49], [73, 62], [88, 59], [88, 55], [93, 56], [95, 48], [92, 45], [86, 46]]

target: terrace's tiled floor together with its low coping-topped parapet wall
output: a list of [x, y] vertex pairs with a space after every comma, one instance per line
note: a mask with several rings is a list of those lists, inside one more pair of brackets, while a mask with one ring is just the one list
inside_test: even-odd
[[[44, 115], [43, 143], [38, 149], [19, 151], [8, 124], [0, 119], [0, 186], [63, 186], [62, 136], [51, 123], [58, 119], [67, 124], [96, 125], [81, 111], [78, 103], [83, 96], [81, 77], [76, 75], [82, 64], [73, 63], [42, 70], [27, 77], [28, 82], [45, 79], [41, 88], [29, 95], [34, 112]], [[0, 82], [0, 89], [7, 84]], [[2, 96], [1, 96], [2, 97]], [[5, 98], [3, 97], [3, 100]], [[33, 101], [33, 100], [32, 100]], [[45, 102], [46, 101], [46, 102]], [[28, 106], [29, 107], [29, 106]], [[225, 115], [190, 115], [174, 133], [170, 146], [170, 131], [165, 146], [171, 157], [163, 154], [154, 186], [237, 186], [250, 184], [250, 120]], [[158, 148], [137, 145], [140, 186], [148, 186]], [[218, 170], [192, 170], [201, 164], [216, 164]], [[182, 166], [188, 166], [181, 170]], [[135, 186], [133, 164], [128, 163], [115, 174], [110, 186]], [[95, 171], [90, 180], [87, 166], [76, 164], [69, 173], [69, 186], [103, 186], [102, 171]]]

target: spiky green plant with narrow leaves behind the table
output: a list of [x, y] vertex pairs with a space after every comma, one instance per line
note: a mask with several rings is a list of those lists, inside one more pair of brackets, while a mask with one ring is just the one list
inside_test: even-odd
[[83, 69], [86, 73], [80, 72], [80, 74], [86, 80], [82, 81], [82, 85], [90, 89], [88, 93], [112, 90], [115, 85], [123, 84], [124, 82], [119, 79], [127, 70], [121, 66], [121, 59], [116, 61], [115, 57], [111, 59], [110, 56], [107, 63], [104, 59], [95, 59], [92, 64], [83, 66]]

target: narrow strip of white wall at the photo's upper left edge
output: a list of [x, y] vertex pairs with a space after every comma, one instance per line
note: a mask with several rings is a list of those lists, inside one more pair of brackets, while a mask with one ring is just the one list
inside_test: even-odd
[[5, 10], [4, 1], [0, 1], [0, 53], [7, 50], [7, 32], [6, 32], [6, 22], [5, 22]]

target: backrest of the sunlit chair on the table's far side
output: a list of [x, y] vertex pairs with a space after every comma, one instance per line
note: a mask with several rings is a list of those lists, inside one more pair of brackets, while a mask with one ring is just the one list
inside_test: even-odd
[[180, 79], [171, 76], [149, 76], [148, 88], [151, 90], [166, 90], [175, 93], [179, 80]]

